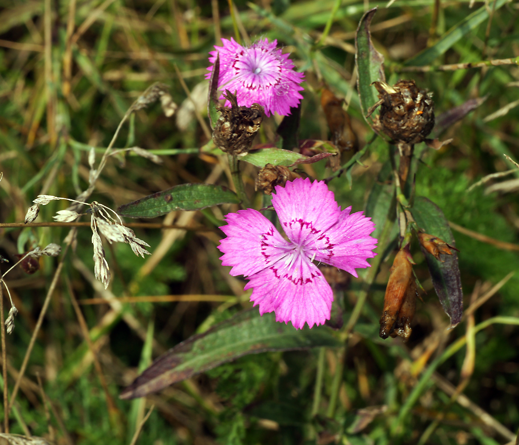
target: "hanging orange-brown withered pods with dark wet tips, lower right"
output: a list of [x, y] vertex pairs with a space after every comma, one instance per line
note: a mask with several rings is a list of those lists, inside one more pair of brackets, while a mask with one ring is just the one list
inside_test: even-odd
[[389, 269], [384, 312], [380, 317], [378, 332], [380, 338], [400, 336], [405, 342], [411, 335], [410, 324], [415, 314], [417, 292], [410, 257], [407, 249], [401, 249]]

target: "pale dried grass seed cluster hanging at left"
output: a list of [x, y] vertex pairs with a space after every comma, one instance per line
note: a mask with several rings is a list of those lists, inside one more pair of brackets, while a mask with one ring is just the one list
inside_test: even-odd
[[[112, 210], [110, 207], [99, 204], [97, 201], [93, 201], [91, 204], [87, 204], [75, 199], [60, 198], [58, 196], [52, 195], [38, 195], [37, 198], [33, 200], [33, 203], [35, 203], [35, 206], [45, 206], [49, 204], [50, 201], [57, 199], [72, 201], [73, 203], [73, 206], [65, 210], [60, 210], [56, 215], [54, 215], [53, 218], [61, 222], [74, 221], [81, 215], [81, 213], [78, 213], [75, 210], [76, 208], [82, 205], [90, 206], [90, 228], [92, 229], [92, 245], [94, 250], [94, 274], [95, 278], [104, 284], [105, 289], [110, 283], [111, 275], [110, 267], [108, 267], [108, 263], [105, 258], [103, 243], [101, 241], [99, 232], [103, 234], [103, 236], [108, 240], [108, 242], [110, 242], [110, 244], [112, 244], [112, 242], [126, 242], [130, 245], [135, 255], [141, 255], [141, 257], [144, 258], [145, 254], [150, 254], [146, 250], [146, 247], [149, 247], [149, 244], [147, 244], [146, 241], [137, 238], [131, 228], [125, 227], [122, 224], [119, 215], [114, 210]], [[29, 211], [25, 215], [25, 223], [30, 223], [36, 218], [38, 211], [33, 209], [35, 206], [29, 208]], [[115, 214], [117, 219], [113, 218], [111, 213]], [[56, 250], [55, 248], [51, 248], [51, 246], [57, 245], [47, 246], [41, 254], [50, 254], [53, 249]], [[35, 254], [38, 254], [39, 251], [36, 253], [35, 252], [36, 250], [31, 254], [34, 256]]]

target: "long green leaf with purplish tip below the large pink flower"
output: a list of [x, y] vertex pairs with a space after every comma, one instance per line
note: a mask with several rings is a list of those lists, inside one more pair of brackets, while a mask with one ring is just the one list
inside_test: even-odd
[[340, 344], [330, 328], [296, 330], [290, 324], [276, 322], [274, 314], [260, 317], [256, 308], [176, 345], [155, 360], [120, 397], [143, 397], [247, 354]]

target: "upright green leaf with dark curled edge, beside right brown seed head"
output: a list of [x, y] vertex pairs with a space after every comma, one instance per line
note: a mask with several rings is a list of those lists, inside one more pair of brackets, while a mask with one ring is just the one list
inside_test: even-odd
[[378, 100], [373, 82], [386, 81], [384, 74], [384, 56], [378, 52], [371, 43], [370, 24], [377, 8], [373, 8], [362, 16], [355, 37], [355, 63], [357, 65], [357, 88], [362, 114], [366, 122], [372, 123], [366, 118], [367, 111]]

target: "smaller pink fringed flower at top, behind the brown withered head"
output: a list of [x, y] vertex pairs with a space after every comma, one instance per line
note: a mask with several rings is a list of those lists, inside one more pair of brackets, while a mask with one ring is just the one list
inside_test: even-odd
[[[299, 84], [305, 75], [293, 70], [289, 55], [276, 48], [277, 40], [269, 43], [268, 39], [260, 39], [246, 48], [231, 37], [230, 40], [223, 38], [222, 44], [210, 52], [209, 61], [214, 63], [220, 53], [218, 88], [237, 91], [239, 106], [258, 103], [267, 116], [270, 113], [286, 116], [290, 114], [290, 107], [297, 106], [303, 99], [298, 91], [304, 89]], [[212, 72], [213, 66], [208, 70]], [[206, 75], [210, 77], [211, 73]], [[226, 106], [230, 106], [229, 101]]]

